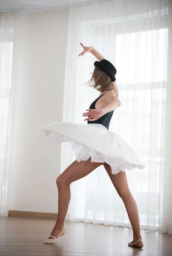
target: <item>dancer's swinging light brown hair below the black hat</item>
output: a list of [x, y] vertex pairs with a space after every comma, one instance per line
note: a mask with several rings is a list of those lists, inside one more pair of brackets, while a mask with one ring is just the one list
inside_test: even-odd
[[85, 85], [93, 87], [97, 91], [101, 92], [113, 89], [113, 83], [110, 76], [98, 66], [95, 66], [91, 79], [89, 79]]

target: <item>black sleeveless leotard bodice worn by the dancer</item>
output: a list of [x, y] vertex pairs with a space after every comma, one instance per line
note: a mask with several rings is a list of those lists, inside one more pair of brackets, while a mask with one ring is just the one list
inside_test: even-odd
[[[105, 93], [104, 93], [105, 94]], [[100, 99], [104, 94], [100, 95], [97, 99], [95, 99], [94, 102], [92, 102], [92, 104], [90, 105], [89, 109], [95, 109], [95, 104], [97, 102], [98, 99]], [[109, 130], [109, 124], [110, 124], [110, 120], [112, 118], [114, 111], [110, 111], [106, 114], [104, 114], [103, 116], [101, 116], [99, 119], [95, 120], [95, 121], [87, 121], [88, 124], [101, 124], [103, 126], [105, 126], [108, 130]]]

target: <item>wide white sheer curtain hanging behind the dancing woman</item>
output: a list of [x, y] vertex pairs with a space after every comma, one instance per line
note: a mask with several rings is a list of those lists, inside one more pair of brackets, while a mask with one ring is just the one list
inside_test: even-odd
[[[81, 86], [91, 77], [95, 57], [77, 57], [80, 42], [93, 45], [117, 69], [121, 106], [110, 130], [123, 137], [146, 165], [126, 172], [140, 227], [172, 234], [170, 5], [166, 0], [115, 0], [70, 9], [63, 120], [84, 123], [82, 113], [99, 94]], [[61, 172], [73, 160], [71, 146], [64, 143]], [[71, 190], [66, 219], [131, 227], [102, 166], [72, 183]]]

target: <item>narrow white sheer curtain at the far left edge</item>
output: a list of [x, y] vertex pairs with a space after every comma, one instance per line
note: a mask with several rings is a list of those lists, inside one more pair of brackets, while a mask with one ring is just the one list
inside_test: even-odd
[[[0, 216], [8, 216], [15, 73], [12, 61], [15, 14], [0, 13]], [[12, 86], [11, 86], [12, 84]]]

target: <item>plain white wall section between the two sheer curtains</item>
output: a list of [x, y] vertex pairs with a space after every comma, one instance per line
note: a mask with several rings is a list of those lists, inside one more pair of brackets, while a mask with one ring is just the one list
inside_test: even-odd
[[67, 10], [20, 14], [9, 210], [58, 211], [61, 145], [42, 126], [63, 118], [67, 30]]

